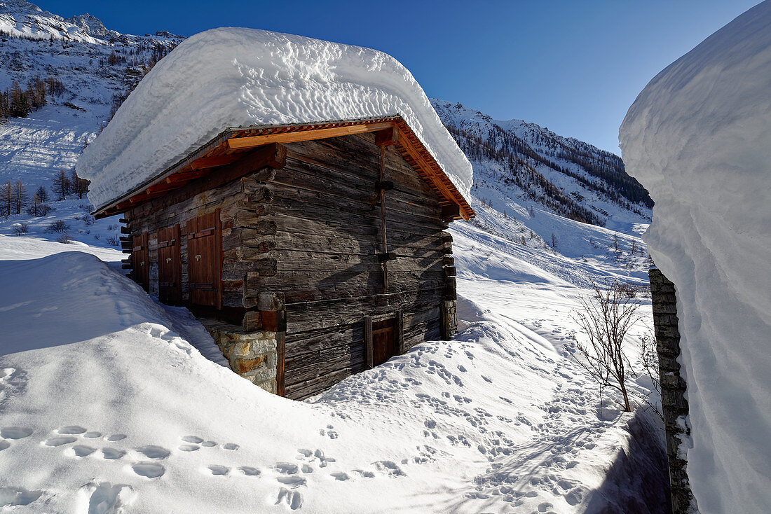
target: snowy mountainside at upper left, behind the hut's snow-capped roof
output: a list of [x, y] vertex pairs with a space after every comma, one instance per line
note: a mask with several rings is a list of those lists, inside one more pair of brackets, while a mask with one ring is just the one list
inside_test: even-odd
[[[3, 5], [0, 19], [6, 15]], [[52, 16], [46, 19], [56, 21]], [[23, 89], [36, 76], [59, 79], [65, 87], [62, 95], [47, 96], [47, 105], [26, 118], [0, 121], [0, 181], [22, 180], [32, 192], [39, 185], [49, 186], [59, 170], [73, 170], [79, 153], [109, 118], [113, 102], [136, 85], [154, 55], [178, 41], [127, 36], [99, 45], [0, 36], [0, 89], [10, 89], [13, 82]]]

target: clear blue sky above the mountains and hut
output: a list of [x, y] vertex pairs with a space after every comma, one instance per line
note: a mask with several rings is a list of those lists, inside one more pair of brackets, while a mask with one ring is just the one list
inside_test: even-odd
[[103, 2], [41, 0], [113, 30], [192, 35], [243, 26], [368, 46], [429, 97], [525, 119], [619, 153], [618, 126], [659, 71], [756, 0]]

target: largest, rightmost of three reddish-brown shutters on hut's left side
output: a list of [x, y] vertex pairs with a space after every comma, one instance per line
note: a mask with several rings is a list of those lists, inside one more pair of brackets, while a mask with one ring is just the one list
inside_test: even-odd
[[190, 303], [222, 307], [220, 211], [187, 222], [187, 287]]

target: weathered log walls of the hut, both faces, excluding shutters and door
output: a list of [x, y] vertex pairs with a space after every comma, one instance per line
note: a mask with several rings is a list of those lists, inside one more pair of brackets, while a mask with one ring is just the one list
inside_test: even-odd
[[451, 335], [454, 267], [438, 197], [393, 147], [385, 152], [384, 178], [393, 183], [385, 192], [385, 227], [388, 251], [396, 253], [385, 264], [387, 290], [377, 257], [383, 249], [375, 136], [289, 143], [286, 151], [280, 170], [214, 188], [211, 179], [197, 180], [126, 217], [131, 236], [149, 234], [153, 294], [158, 294], [157, 233], [180, 225], [187, 303], [186, 223], [219, 209], [223, 309], [218, 314], [258, 331], [264, 328], [260, 295], [280, 298], [287, 325], [284, 393], [307, 398], [365, 368], [365, 317], [379, 321], [400, 311], [401, 351]]

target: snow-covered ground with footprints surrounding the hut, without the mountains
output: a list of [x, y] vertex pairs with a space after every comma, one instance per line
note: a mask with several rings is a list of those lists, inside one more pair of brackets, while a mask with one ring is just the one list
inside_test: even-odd
[[[584, 227], [608, 244], [605, 229]], [[600, 410], [571, 345], [585, 284], [629, 271], [614, 272], [613, 258], [524, 251], [496, 231], [507, 227], [453, 224], [454, 341], [420, 344], [307, 402], [218, 364], [200, 324], [123, 277], [123, 254], [103, 238], [0, 235], [0, 505], [661, 512], [655, 416], [621, 413], [607, 397]]]

